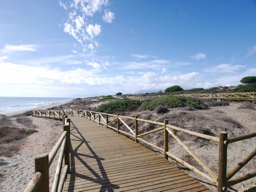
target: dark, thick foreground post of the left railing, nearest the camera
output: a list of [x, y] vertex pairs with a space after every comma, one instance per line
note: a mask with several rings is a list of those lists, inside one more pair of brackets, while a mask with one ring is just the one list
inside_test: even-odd
[[41, 154], [35, 158], [35, 174], [39, 171], [44, 174], [37, 192], [49, 192], [49, 159], [48, 154]]

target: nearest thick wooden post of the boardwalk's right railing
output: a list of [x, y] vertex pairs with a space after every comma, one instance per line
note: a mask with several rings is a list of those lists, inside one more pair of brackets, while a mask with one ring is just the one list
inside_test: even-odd
[[228, 133], [221, 131], [219, 134], [219, 170], [218, 170], [218, 192], [227, 190], [227, 141]]

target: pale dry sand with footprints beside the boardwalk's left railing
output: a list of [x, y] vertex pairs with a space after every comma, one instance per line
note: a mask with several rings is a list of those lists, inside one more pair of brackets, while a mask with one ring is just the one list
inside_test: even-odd
[[[62, 134], [62, 122], [50, 119], [29, 117], [37, 125], [36, 133], [21, 141], [18, 154], [11, 157], [0, 156], [0, 191], [23, 191], [34, 174], [34, 158], [43, 152], [50, 152]], [[50, 168], [53, 180], [58, 156]]]

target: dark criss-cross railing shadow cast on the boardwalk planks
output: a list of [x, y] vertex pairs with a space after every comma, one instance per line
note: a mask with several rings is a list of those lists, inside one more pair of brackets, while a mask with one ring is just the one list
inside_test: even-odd
[[[115, 184], [111, 184], [107, 173], [104, 169], [104, 165], [102, 165], [102, 160], [104, 160], [103, 158], [99, 157], [95, 151], [93, 151], [92, 147], [90, 146], [90, 141], [87, 141], [85, 139], [85, 137], [83, 137], [83, 135], [81, 134], [81, 132], [77, 129], [77, 127], [73, 124], [73, 122], [71, 121], [71, 140], [76, 140], [76, 141], [80, 141], [80, 144], [78, 144], [78, 146], [73, 149], [72, 145], [70, 147], [71, 150], [71, 176], [70, 176], [70, 183], [68, 185], [68, 191], [73, 191], [75, 188], [75, 180], [76, 178], [81, 178], [87, 181], [92, 181], [93, 183], [97, 183], [99, 185], [101, 185], [101, 189], [100, 191], [114, 191], [114, 189], [118, 189], [119, 186], [115, 185]], [[76, 134], [76, 135], [75, 135]], [[77, 136], [78, 134], [78, 136]], [[78, 152], [78, 149], [80, 149], [80, 147], [82, 145], [86, 145], [87, 149], [90, 150], [92, 155], [87, 155], [87, 154], [81, 154], [80, 152]], [[82, 157], [89, 157], [92, 159], [96, 160], [96, 163], [100, 169], [100, 173], [98, 174], [97, 171], [93, 170], [93, 168], [88, 165], [83, 159]], [[85, 168], [87, 170], [89, 170], [91, 172], [91, 174], [96, 178], [92, 178], [90, 176], [87, 176], [86, 174], [80, 174], [77, 173], [76, 170], [76, 164], [75, 164], [75, 159], [79, 160], [83, 166], [85, 166]]]

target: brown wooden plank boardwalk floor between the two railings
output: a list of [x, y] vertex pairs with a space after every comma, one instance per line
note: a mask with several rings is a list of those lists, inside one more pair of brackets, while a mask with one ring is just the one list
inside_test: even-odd
[[210, 191], [156, 152], [83, 117], [71, 117], [64, 191]]

